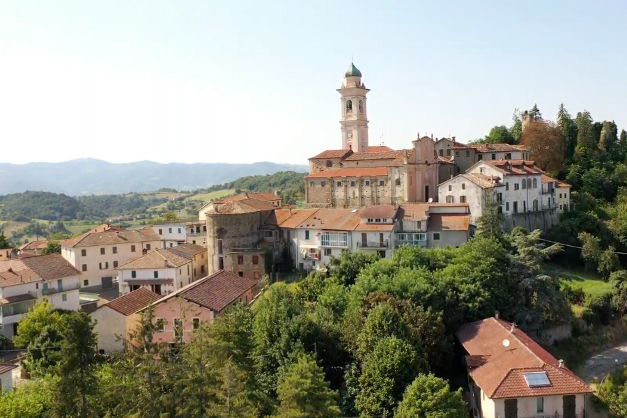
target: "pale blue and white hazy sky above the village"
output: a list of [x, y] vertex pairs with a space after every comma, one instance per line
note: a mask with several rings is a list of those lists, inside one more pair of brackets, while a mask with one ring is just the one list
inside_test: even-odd
[[341, 148], [351, 59], [370, 145], [466, 142], [538, 104], [627, 128], [624, 1], [0, 2], [0, 162], [307, 164]]

